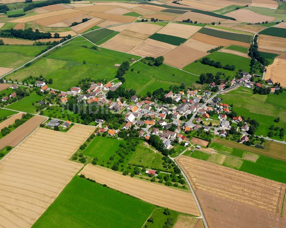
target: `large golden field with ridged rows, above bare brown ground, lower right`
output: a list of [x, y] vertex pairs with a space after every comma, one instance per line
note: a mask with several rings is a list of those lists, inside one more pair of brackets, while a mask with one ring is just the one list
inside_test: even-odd
[[285, 184], [186, 156], [177, 162], [194, 188], [280, 215]]

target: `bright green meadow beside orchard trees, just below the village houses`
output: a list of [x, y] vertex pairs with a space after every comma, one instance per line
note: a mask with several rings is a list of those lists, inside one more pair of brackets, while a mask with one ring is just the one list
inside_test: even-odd
[[84, 150], [84, 155], [92, 158], [97, 157], [99, 162], [108, 160], [119, 149], [120, 140], [96, 136]]

